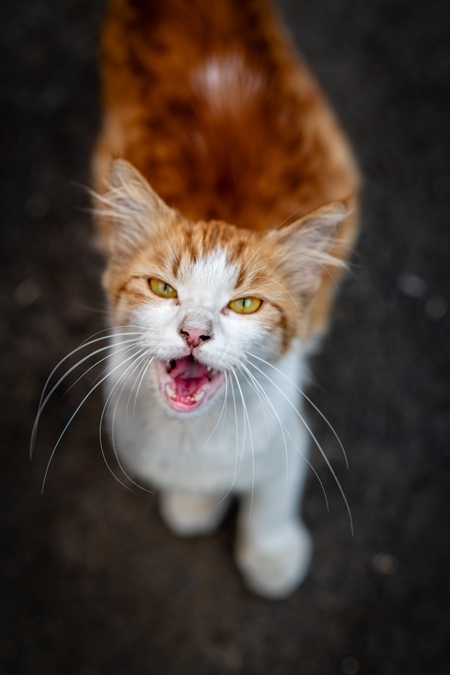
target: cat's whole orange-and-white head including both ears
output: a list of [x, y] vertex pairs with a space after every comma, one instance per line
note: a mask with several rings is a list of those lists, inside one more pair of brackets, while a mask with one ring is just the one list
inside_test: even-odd
[[103, 217], [112, 220], [104, 277], [113, 322], [154, 358], [148, 376], [167, 411], [206, 410], [249, 355], [276, 362], [302, 338], [336, 229], [332, 204], [258, 233], [173, 210], [116, 160]]

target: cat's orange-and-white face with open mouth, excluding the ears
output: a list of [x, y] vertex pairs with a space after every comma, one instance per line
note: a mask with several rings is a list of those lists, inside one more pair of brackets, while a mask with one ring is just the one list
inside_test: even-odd
[[[212, 232], [217, 244], [205, 247]], [[122, 270], [115, 321], [142, 330], [155, 357], [149, 373], [171, 411], [203, 410], [249, 354], [276, 360], [287, 348], [298, 309], [265, 269], [271, 253], [231, 226], [179, 222]]]

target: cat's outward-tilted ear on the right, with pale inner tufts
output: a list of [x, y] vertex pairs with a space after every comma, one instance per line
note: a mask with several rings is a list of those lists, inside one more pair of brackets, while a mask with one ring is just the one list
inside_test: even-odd
[[281, 264], [297, 292], [314, 293], [325, 267], [345, 268], [345, 261], [331, 250], [336, 249], [339, 226], [348, 212], [346, 204], [333, 202], [274, 232], [285, 251]]

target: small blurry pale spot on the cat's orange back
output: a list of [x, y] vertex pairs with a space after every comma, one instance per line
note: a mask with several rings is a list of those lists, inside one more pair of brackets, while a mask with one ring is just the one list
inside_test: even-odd
[[240, 54], [211, 56], [192, 73], [192, 86], [217, 112], [244, 107], [263, 87], [262, 76]]

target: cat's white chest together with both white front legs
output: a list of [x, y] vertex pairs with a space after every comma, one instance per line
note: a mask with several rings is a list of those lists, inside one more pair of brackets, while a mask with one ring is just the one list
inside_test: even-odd
[[289, 594], [312, 550], [298, 515], [308, 445], [299, 424], [300, 346], [277, 370], [254, 357], [247, 372], [227, 374], [216, 405], [185, 421], [164, 409], [151, 369], [136, 387], [116, 358], [107, 395], [120, 462], [162, 493], [162, 515], [177, 534], [210, 532], [238, 494], [236, 562], [248, 586], [270, 598]]

